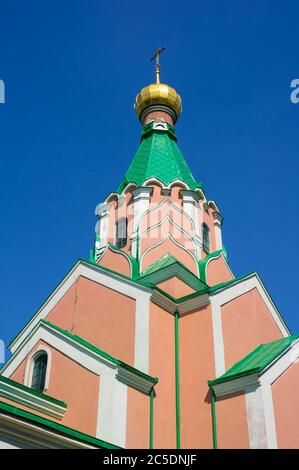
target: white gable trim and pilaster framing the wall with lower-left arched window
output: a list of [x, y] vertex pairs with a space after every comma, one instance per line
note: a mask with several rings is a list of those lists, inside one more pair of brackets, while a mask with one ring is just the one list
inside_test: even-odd
[[100, 377], [96, 437], [125, 447], [128, 384], [134, 384], [141, 391], [145, 391], [146, 388], [149, 390], [150, 384], [146, 384], [146, 381], [141, 380], [139, 376], [136, 376], [134, 381], [133, 374], [126, 374], [121, 366], [109, 362], [108, 359], [44, 323], [36, 325], [4, 366], [2, 375], [10, 377], [26, 359], [28, 351], [32, 351], [40, 341], [46, 342], [48, 346], [61, 351], [72, 361]]

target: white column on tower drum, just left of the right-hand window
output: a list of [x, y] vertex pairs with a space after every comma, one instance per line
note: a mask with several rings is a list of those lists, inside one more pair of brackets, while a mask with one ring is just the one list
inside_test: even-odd
[[[190, 190], [181, 190], [181, 195], [183, 196], [183, 209], [186, 214], [192, 219], [194, 223], [194, 241], [196, 246], [196, 256], [197, 259], [201, 258], [201, 222], [202, 213], [201, 207], [199, 204], [199, 196], [195, 191]], [[183, 227], [184, 228], [184, 227]]]

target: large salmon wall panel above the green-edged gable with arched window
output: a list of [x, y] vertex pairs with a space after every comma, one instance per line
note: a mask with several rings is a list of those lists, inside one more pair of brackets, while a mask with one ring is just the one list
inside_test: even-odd
[[135, 300], [80, 276], [46, 320], [133, 365]]

